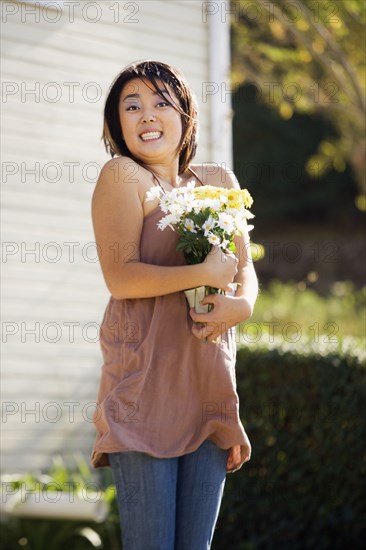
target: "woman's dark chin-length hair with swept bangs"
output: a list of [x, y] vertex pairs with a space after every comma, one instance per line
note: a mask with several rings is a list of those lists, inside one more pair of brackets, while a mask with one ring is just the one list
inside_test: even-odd
[[177, 150], [179, 155], [179, 173], [182, 174], [188, 168], [197, 149], [197, 106], [184, 76], [177, 69], [166, 63], [159, 61], [132, 63], [125, 67], [112, 82], [104, 107], [102, 139], [106, 150], [112, 158], [115, 155], [124, 155], [142, 164], [141, 161], [134, 158], [122, 137], [118, 111], [121, 92], [125, 85], [134, 78], [149, 80], [154, 90], [158, 93], [159, 83], [157, 81], [159, 80], [163, 83], [168, 96], [171, 97], [169, 89], [166, 87], [167, 84], [177, 96], [179, 106], [173, 101], [173, 98], [171, 98], [171, 103], [169, 103], [181, 114], [182, 118], [182, 138]]

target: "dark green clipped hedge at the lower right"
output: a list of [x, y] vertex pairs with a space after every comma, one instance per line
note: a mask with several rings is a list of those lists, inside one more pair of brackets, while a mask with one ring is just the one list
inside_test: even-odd
[[357, 353], [310, 344], [238, 350], [253, 450], [227, 476], [212, 550], [364, 547], [366, 387]]

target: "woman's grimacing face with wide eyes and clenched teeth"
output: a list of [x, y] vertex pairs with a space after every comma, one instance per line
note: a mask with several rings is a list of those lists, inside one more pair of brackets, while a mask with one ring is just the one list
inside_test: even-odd
[[[168, 88], [179, 105], [173, 90]], [[130, 152], [146, 164], [169, 164], [176, 160], [182, 137], [181, 115], [168, 103], [172, 100], [163, 84], [160, 92], [152, 89], [148, 80], [135, 78], [123, 88], [119, 102], [123, 139]]]

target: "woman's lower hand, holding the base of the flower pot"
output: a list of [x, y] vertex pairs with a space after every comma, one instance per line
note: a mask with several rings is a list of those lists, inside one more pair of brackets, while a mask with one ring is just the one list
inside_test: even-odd
[[210, 342], [241, 321], [249, 319], [252, 314], [252, 308], [244, 296], [209, 294], [201, 304], [212, 304], [213, 309], [209, 313], [196, 313], [194, 308], [190, 309], [194, 321], [192, 333], [200, 340]]

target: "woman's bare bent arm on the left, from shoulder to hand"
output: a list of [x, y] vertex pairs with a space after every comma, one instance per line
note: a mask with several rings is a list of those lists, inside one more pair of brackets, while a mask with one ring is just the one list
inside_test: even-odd
[[[131, 166], [137, 172], [131, 176]], [[234, 255], [212, 250], [193, 266], [162, 267], [140, 261], [146, 173], [126, 157], [107, 162], [92, 199], [92, 218], [103, 276], [116, 299], [161, 296], [200, 285], [228, 289], [237, 271]]]

